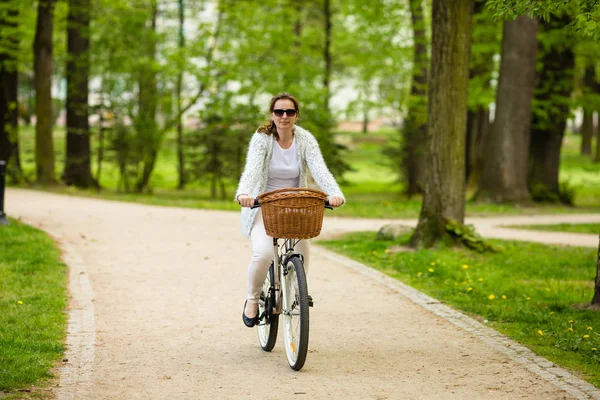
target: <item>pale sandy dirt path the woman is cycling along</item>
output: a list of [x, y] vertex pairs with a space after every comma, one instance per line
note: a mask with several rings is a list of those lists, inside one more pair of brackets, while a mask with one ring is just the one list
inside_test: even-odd
[[[476, 322], [316, 246], [310, 352], [292, 371], [280, 343], [264, 353], [242, 324], [250, 248], [238, 213], [15, 189], [6, 211], [56, 236], [70, 266], [59, 399], [600, 398], [573, 389], [576, 379], [534, 373]], [[383, 223], [328, 217], [324, 233]]]

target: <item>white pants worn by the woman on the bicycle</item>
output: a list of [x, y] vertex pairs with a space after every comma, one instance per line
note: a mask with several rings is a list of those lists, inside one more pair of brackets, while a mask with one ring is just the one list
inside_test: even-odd
[[[248, 303], [258, 303], [262, 285], [269, 273], [273, 261], [273, 238], [267, 236], [262, 220], [262, 211], [256, 214], [256, 219], [250, 231], [252, 240], [252, 259], [248, 266]], [[310, 261], [310, 246], [308, 240], [301, 240], [295, 246], [295, 251], [304, 256], [304, 271], [308, 275]]]

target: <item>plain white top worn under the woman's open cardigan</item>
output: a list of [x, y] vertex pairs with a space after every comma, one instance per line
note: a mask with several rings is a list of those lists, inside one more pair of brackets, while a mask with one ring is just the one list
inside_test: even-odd
[[266, 191], [300, 186], [300, 159], [296, 147], [296, 137], [288, 149], [282, 149], [273, 140], [273, 156], [269, 164]]

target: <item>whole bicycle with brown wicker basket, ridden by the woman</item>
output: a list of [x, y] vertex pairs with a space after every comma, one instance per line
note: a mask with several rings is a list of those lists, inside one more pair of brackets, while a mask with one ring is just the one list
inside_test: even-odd
[[[304, 366], [308, 353], [312, 299], [308, 295], [304, 258], [294, 248], [301, 239], [320, 233], [323, 209], [333, 209], [326, 198], [318, 190], [280, 189], [259, 196], [253, 206], [263, 207], [265, 230], [273, 237], [273, 263], [258, 303], [258, 339], [264, 351], [271, 351], [282, 316], [285, 354], [295, 371]], [[281, 245], [279, 240], [283, 240]]]

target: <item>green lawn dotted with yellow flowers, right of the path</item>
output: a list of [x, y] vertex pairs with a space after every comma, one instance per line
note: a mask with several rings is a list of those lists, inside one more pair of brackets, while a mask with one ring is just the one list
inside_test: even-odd
[[473, 316], [600, 387], [600, 310], [579, 309], [594, 293], [597, 250], [491, 241], [498, 253], [405, 244], [374, 232], [319, 241]]

